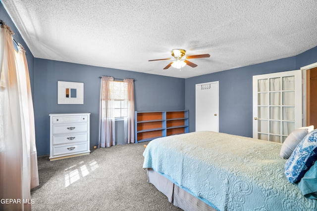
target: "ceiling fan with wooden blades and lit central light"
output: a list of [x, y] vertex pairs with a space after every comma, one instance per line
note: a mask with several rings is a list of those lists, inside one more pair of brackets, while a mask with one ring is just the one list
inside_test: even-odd
[[151, 61], [159, 61], [159, 60], [169, 60], [173, 59], [171, 63], [169, 63], [166, 67], [163, 68], [163, 70], [169, 68], [170, 66], [180, 69], [184, 67], [185, 65], [189, 65], [191, 67], [197, 67], [197, 64], [194, 64], [193, 62], [188, 61], [187, 59], [197, 59], [197, 58], [207, 58], [210, 57], [209, 54], [199, 54], [199, 55], [191, 55], [191, 56], [185, 56], [186, 50], [184, 49], [172, 49], [172, 56], [173, 58], [166, 58], [166, 59], [152, 59]]

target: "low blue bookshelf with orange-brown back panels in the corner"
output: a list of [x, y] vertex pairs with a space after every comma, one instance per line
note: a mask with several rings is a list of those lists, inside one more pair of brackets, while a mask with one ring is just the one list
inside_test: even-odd
[[189, 132], [188, 110], [135, 112], [136, 143]]

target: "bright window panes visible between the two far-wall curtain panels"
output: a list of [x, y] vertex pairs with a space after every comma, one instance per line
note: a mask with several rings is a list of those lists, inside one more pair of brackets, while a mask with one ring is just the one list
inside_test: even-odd
[[128, 116], [128, 93], [127, 83], [112, 81], [110, 82], [110, 99], [111, 99], [111, 113], [114, 118], [122, 118]]

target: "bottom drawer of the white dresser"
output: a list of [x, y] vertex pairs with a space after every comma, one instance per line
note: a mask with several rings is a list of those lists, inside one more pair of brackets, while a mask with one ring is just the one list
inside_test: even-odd
[[73, 143], [73, 144], [62, 144], [53, 146], [53, 156], [72, 154], [87, 151], [87, 142]]

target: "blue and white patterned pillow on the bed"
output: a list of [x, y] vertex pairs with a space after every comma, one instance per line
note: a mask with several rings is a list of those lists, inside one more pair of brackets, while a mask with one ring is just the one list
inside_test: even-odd
[[317, 129], [308, 133], [297, 145], [285, 164], [285, 176], [291, 183], [299, 182], [317, 160]]

